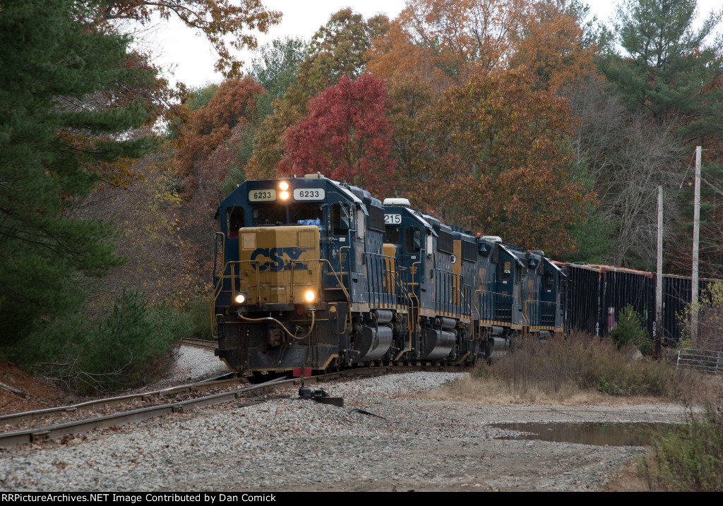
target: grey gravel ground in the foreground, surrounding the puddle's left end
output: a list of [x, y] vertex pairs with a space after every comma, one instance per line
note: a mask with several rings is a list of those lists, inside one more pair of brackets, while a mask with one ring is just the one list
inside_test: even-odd
[[291, 397], [254, 406], [226, 403], [0, 450], [0, 489], [594, 490], [641, 449], [493, 439], [509, 432], [489, 424], [670, 421], [682, 415], [680, 408], [658, 404], [489, 405], [419, 395], [463, 374], [414, 372], [321, 385], [343, 397], [343, 408], [299, 400], [298, 387], [286, 388], [277, 394]]

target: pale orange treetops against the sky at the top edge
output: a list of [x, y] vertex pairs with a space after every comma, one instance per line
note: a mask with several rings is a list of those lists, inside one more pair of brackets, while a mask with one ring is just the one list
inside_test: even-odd
[[495, 69], [525, 66], [540, 89], [594, 72], [578, 14], [565, 0], [409, 0], [372, 41], [367, 70], [414, 75], [433, 90]]

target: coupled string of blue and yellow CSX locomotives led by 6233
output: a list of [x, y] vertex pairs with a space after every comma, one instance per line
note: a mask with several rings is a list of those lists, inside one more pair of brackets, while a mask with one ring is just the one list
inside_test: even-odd
[[562, 272], [320, 174], [246, 181], [221, 202], [218, 356], [250, 372], [474, 364], [562, 331]]

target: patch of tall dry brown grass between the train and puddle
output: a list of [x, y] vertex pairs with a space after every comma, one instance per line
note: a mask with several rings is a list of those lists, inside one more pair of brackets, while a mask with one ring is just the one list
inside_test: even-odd
[[720, 391], [719, 380], [678, 371], [666, 361], [633, 359], [623, 348], [585, 334], [539, 343], [521, 340], [471, 377], [427, 393], [437, 400], [491, 403], [641, 404], [680, 400], [702, 403]]

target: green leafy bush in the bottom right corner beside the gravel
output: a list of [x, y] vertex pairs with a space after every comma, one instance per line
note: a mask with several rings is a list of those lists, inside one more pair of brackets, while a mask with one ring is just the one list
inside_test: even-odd
[[723, 403], [707, 404], [702, 416], [689, 409], [687, 422], [656, 438], [654, 458], [638, 468], [651, 489], [723, 492]]

